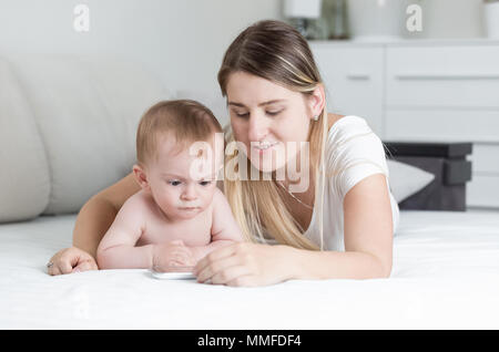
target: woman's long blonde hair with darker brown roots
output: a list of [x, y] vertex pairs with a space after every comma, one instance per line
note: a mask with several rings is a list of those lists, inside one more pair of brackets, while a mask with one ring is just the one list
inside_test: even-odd
[[[244, 30], [228, 46], [218, 72], [222, 94], [226, 96], [228, 77], [234, 72], [246, 72], [279, 84], [288, 90], [310, 95], [323, 83], [306, 40], [291, 25], [279, 21], [261, 21]], [[323, 203], [325, 167], [324, 153], [327, 135], [327, 110], [310, 123], [308, 142], [310, 167], [315, 180], [315, 201], [320, 229], [320, 247], [303, 236], [304, 229], [293, 218], [282, 198], [282, 189], [274, 180], [235, 180], [224, 177], [228, 203], [243, 234], [249, 241], [265, 242], [264, 234], [277, 242], [303, 249], [323, 249]], [[227, 128], [226, 142], [234, 142]], [[225, 165], [237, 157], [237, 151], [227, 156]], [[247, 161], [247, 159], [246, 159]], [[247, 161], [248, 170], [253, 167]], [[322, 175], [319, 175], [319, 172]], [[259, 174], [262, 176], [262, 174]], [[262, 177], [261, 177], [262, 178]], [[246, 180], [245, 180], [246, 179]]]

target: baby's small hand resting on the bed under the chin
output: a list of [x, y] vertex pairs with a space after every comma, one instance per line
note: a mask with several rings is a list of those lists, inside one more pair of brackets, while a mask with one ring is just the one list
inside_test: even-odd
[[153, 269], [156, 271], [176, 271], [175, 267], [194, 267], [192, 251], [182, 240], [156, 245], [153, 255]]

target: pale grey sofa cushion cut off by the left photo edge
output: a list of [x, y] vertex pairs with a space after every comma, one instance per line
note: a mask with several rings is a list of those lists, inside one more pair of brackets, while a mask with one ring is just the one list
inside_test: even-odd
[[49, 164], [30, 103], [0, 58], [0, 222], [34, 218], [49, 203]]

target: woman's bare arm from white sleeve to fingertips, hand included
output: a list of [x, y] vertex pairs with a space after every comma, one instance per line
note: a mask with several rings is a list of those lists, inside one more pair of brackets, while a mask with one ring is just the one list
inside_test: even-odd
[[384, 175], [355, 185], [344, 199], [345, 252], [242, 242], [208, 253], [194, 268], [197, 281], [263, 286], [289, 279], [387, 278], [393, 219]]

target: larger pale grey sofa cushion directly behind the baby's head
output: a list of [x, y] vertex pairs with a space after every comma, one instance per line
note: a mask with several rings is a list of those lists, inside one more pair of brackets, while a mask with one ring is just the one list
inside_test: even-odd
[[[116, 56], [18, 54], [9, 59], [34, 117], [35, 136], [42, 139], [38, 152], [47, 155], [49, 201], [43, 214], [77, 213], [90, 197], [130, 174], [141, 115], [171, 93], [140, 64]], [[4, 133], [22, 141], [33, 134]], [[29, 153], [34, 142], [29, 143], [22, 154], [13, 152], [27, 175], [34, 168]]]

